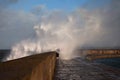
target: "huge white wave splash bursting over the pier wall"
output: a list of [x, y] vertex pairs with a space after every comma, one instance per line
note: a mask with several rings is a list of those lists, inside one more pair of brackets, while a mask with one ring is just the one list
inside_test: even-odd
[[96, 14], [86, 10], [76, 10], [69, 14], [55, 11], [44, 15], [33, 28], [36, 35], [13, 46], [6, 60], [56, 49], [60, 49], [62, 59], [73, 58], [76, 56], [73, 53], [76, 48], [100, 35], [100, 23]]

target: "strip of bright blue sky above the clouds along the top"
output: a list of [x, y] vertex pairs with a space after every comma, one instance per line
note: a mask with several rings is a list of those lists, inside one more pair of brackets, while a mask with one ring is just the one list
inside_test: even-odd
[[29, 12], [35, 6], [44, 5], [48, 10], [57, 9], [73, 11], [76, 8], [86, 6], [88, 4], [92, 5], [91, 8], [103, 6], [108, 1], [110, 0], [19, 0], [18, 3], [12, 4], [9, 8]]

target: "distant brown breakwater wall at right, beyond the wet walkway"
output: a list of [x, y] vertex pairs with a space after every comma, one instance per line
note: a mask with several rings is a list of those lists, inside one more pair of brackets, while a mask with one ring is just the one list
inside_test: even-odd
[[82, 50], [86, 53], [86, 58], [89, 60], [101, 58], [120, 58], [120, 49], [90, 49]]

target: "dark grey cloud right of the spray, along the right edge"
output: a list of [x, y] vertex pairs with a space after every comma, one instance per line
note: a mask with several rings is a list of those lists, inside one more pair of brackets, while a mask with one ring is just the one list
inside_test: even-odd
[[106, 46], [120, 47], [120, 1], [112, 0], [110, 5], [100, 10], [103, 40]]

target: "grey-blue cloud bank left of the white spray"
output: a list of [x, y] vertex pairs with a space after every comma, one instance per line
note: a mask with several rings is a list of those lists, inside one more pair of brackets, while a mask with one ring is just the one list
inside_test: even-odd
[[37, 23], [37, 16], [24, 11], [0, 12], [0, 49], [10, 49], [13, 44], [34, 36], [33, 26]]

